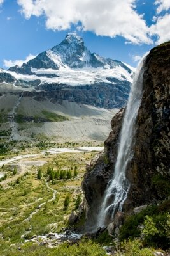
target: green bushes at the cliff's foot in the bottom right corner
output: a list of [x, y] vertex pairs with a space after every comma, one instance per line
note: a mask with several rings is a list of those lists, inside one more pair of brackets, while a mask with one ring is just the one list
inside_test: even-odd
[[[143, 234], [145, 244], [168, 248], [170, 246], [170, 200], [160, 205], [150, 205], [138, 214], [128, 216], [120, 227], [120, 240], [136, 239]], [[148, 221], [147, 221], [148, 220]], [[142, 225], [144, 228], [138, 228]]]

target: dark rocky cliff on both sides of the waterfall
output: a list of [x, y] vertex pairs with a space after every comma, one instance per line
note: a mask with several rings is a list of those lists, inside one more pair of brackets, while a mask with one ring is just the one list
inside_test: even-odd
[[[138, 112], [134, 157], [127, 169], [131, 183], [123, 211], [154, 204], [170, 195], [169, 164], [169, 86], [170, 42], [150, 51], [143, 77], [143, 98]], [[111, 122], [112, 132], [99, 158], [87, 167], [82, 188], [89, 223], [94, 223], [104, 189], [113, 175], [123, 111]]]

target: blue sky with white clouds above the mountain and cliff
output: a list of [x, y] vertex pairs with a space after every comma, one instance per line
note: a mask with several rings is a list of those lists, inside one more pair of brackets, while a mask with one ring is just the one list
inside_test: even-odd
[[91, 52], [133, 67], [154, 45], [170, 40], [169, 0], [81, 0], [81, 3], [0, 0], [0, 3], [2, 68], [50, 49], [70, 31], [82, 36]]

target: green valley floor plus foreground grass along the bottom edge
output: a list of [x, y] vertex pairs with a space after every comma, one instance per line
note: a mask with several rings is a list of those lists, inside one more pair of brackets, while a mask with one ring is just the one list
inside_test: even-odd
[[[119, 244], [106, 230], [98, 237], [83, 237], [85, 216], [78, 209], [83, 200], [81, 181], [86, 165], [103, 147], [50, 145], [45, 150], [42, 144], [38, 150], [23, 144], [17, 154], [15, 148], [1, 156], [0, 255], [169, 256], [168, 251], [154, 254], [158, 250], [143, 248], [138, 239]], [[71, 212], [80, 214], [74, 226], [69, 224]]]

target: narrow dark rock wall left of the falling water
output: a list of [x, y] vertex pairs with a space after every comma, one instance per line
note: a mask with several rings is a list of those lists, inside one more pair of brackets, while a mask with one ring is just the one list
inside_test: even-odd
[[101, 207], [104, 190], [108, 180], [113, 175], [123, 113], [124, 109], [121, 109], [111, 121], [112, 131], [104, 143], [104, 152], [99, 154], [99, 157], [87, 166], [87, 172], [82, 182], [82, 189], [85, 195], [85, 212], [90, 226], [95, 223], [96, 214]]

